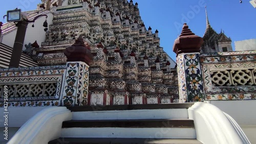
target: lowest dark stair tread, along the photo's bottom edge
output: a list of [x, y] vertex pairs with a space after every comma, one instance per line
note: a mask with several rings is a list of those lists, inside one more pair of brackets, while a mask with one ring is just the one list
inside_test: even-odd
[[52, 140], [49, 144], [69, 143], [69, 144], [202, 144], [197, 139], [154, 139], [154, 138], [74, 138], [60, 137]]

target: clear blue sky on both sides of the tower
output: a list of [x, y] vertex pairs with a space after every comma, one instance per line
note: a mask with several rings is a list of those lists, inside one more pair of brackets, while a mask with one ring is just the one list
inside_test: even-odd
[[[7, 10], [16, 7], [23, 11], [32, 10], [40, 2], [40, 0], [3, 1], [0, 15], [4, 16]], [[173, 44], [177, 35], [181, 33], [183, 23], [187, 23], [196, 35], [203, 36], [206, 28], [204, 6], [207, 6], [211, 27], [218, 33], [221, 29], [224, 30], [225, 34], [232, 39], [233, 49], [235, 41], [256, 38], [256, 9], [251, 6], [249, 0], [244, 0], [242, 4], [239, 0], [133, 1], [134, 4], [136, 2], [146, 28], [151, 26], [153, 32], [158, 29], [160, 46], [174, 60], [176, 54], [173, 52]]]

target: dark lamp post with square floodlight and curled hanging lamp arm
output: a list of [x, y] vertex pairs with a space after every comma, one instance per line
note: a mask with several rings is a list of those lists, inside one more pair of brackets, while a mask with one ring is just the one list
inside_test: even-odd
[[[16, 27], [18, 27], [9, 64], [9, 68], [18, 68], [28, 24], [34, 23], [35, 20], [41, 16], [46, 16], [46, 18], [48, 16], [42, 14], [36, 16], [33, 20], [28, 20], [28, 15], [26, 13], [22, 13], [20, 9], [7, 11], [7, 15], [5, 16], [7, 16], [7, 22], [14, 22]], [[47, 20], [45, 20], [43, 26], [45, 27], [45, 31], [47, 31]], [[34, 25], [32, 27], [34, 27]]]

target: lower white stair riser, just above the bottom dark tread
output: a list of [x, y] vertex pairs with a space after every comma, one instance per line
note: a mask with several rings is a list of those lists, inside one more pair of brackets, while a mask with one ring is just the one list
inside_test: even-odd
[[196, 139], [195, 128], [62, 128], [61, 137]]

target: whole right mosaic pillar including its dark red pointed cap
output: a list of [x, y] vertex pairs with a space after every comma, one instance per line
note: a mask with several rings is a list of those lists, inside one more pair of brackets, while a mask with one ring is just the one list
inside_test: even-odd
[[173, 51], [177, 54], [177, 71], [180, 102], [204, 99], [203, 77], [199, 56], [203, 38], [195, 35], [184, 24], [181, 35], [175, 40]]

